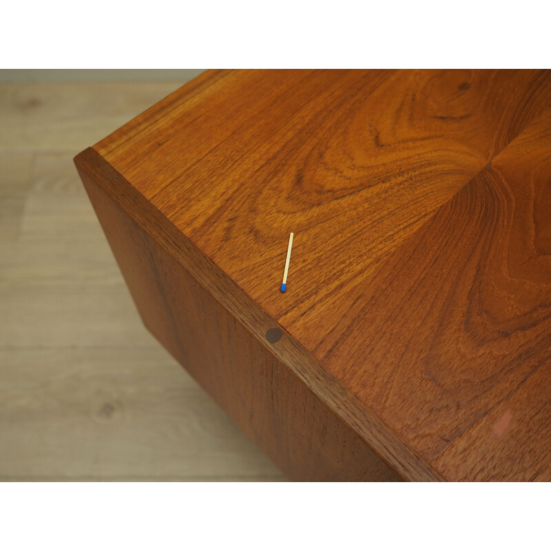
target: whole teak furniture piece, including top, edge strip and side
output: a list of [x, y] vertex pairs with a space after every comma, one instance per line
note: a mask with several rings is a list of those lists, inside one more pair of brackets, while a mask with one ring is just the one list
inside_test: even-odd
[[75, 163], [291, 479], [551, 479], [550, 72], [207, 71]]

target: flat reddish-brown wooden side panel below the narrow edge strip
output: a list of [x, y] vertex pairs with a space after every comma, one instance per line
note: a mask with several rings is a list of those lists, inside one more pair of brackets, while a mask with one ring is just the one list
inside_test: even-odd
[[399, 480], [80, 169], [138, 311], [156, 338], [292, 480]]

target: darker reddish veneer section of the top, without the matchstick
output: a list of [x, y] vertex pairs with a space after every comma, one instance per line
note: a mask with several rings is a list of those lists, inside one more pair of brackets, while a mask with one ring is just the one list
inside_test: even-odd
[[[346, 386], [450, 479], [549, 478], [550, 123], [529, 127], [395, 251], [324, 357], [354, 358]], [[368, 332], [377, 339], [352, 337]], [[519, 453], [535, 435], [541, 448]]]

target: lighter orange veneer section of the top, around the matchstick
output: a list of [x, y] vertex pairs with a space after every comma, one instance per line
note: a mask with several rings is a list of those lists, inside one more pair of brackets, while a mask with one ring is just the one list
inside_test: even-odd
[[[315, 350], [331, 346], [335, 319], [382, 259], [549, 101], [547, 75], [292, 72], [281, 91], [278, 72], [230, 73], [209, 93], [215, 105], [170, 103], [154, 125], [141, 123], [140, 139], [96, 149]], [[244, 95], [256, 109], [217, 121], [216, 132], [202, 126], [203, 112], [240, 114]], [[195, 144], [205, 137], [219, 143], [203, 155]], [[282, 298], [274, 289], [289, 231], [297, 240]]]

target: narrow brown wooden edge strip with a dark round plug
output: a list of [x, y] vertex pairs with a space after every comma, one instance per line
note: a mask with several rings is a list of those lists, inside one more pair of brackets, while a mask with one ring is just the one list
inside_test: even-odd
[[[221, 306], [275, 356], [337, 417], [407, 481], [446, 479], [337, 380], [324, 366], [273, 320], [168, 218], [130, 184], [93, 147], [74, 158], [79, 174], [87, 174], [160, 247], [181, 264]], [[280, 327], [284, 338], [270, 343], [267, 329]]]

